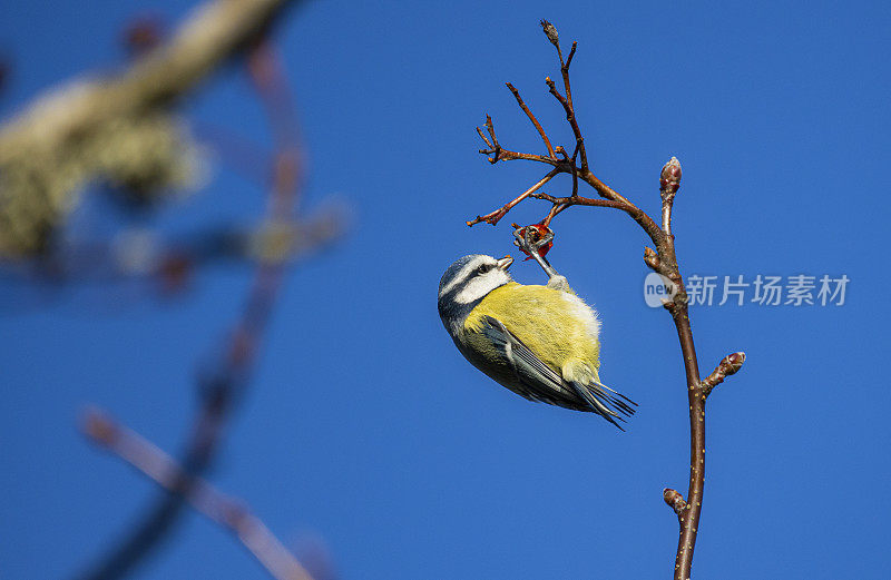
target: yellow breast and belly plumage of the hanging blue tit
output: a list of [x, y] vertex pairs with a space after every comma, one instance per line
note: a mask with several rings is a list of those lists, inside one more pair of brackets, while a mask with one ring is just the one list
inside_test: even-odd
[[584, 363], [596, 375], [600, 365], [599, 322], [575, 294], [511, 282], [487, 294], [464, 321], [464, 328], [480, 332], [483, 316], [501, 321], [558, 373], [569, 363]]

